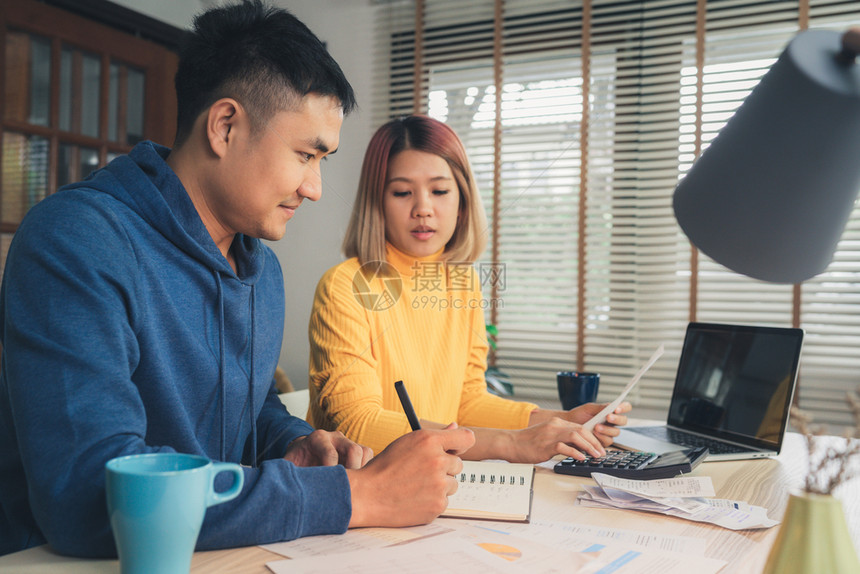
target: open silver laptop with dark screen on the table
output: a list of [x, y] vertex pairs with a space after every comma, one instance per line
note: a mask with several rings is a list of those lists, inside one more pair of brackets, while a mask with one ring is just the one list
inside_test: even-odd
[[803, 330], [690, 323], [665, 425], [625, 426], [615, 445], [707, 460], [776, 456], [788, 424]]

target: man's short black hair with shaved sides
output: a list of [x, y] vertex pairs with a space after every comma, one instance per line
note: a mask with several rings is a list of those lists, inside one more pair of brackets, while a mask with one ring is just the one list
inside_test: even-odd
[[214, 8], [194, 18], [176, 72], [176, 144], [221, 98], [236, 99], [258, 130], [275, 113], [314, 93], [333, 96], [344, 114], [355, 94], [325, 45], [295, 16], [261, 0]]

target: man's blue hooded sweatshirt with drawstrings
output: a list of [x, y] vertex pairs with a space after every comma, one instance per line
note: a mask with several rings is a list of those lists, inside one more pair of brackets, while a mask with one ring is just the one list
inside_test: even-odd
[[[198, 549], [339, 533], [342, 467], [297, 468], [311, 432], [278, 400], [284, 286], [239, 235], [234, 272], [164, 159], [143, 142], [33, 207], [0, 290], [0, 555], [48, 542], [116, 556], [104, 466], [178, 451], [246, 465]], [[229, 481], [229, 479], [227, 479]]]

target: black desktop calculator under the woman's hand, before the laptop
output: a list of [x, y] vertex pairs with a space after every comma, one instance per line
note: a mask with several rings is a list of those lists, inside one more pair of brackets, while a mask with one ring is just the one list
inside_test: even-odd
[[663, 454], [608, 450], [606, 456], [599, 458], [587, 456], [585, 460], [576, 460], [568, 457], [557, 463], [554, 470], [560, 474], [575, 476], [591, 476], [593, 472], [602, 472], [638, 480], [672, 478], [692, 471], [706, 456], [708, 448], [703, 446]]

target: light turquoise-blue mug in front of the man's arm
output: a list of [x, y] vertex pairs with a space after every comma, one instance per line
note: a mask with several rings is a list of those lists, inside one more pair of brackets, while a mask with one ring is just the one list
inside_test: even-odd
[[[206, 509], [236, 498], [245, 481], [238, 464], [175, 452], [121, 456], [105, 472], [122, 574], [188, 574]], [[216, 492], [221, 472], [233, 486]]]

